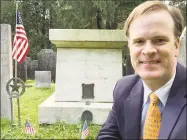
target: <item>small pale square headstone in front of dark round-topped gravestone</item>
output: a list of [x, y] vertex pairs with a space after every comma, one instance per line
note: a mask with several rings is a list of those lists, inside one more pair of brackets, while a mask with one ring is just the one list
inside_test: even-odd
[[51, 71], [35, 71], [35, 87], [50, 88]]

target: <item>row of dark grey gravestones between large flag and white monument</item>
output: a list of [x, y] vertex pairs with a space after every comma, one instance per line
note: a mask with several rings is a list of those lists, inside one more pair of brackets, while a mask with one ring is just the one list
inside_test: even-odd
[[56, 75], [56, 52], [52, 49], [42, 49], [38, 54], [38, 60], [27, 57], [18, 64], [17, 75], [23, 81], [35, 79], [35, 71], [51, 71], [51, 81], [55, 82]]

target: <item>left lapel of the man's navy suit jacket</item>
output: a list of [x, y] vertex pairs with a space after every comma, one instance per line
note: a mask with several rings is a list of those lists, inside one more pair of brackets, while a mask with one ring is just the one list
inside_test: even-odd
[[139, 80], [124, 101], [125, 138], [138, 139], [140, 136], [143, 84]]

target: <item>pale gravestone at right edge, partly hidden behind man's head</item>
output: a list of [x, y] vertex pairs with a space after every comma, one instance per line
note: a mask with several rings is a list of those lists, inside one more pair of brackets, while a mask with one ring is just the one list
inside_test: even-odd
[[186, 67], [186, 27], [182, 32], [180, 40], [181, 40], [181, 44], [179, 48], [178, 61]]

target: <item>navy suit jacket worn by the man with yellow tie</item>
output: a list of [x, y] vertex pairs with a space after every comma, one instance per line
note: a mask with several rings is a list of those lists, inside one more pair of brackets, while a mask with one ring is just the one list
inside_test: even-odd
[[[138, 75], [125, 76], [117, 82], [112, 110], [97, 139], [140, 138], [143, 92], [143, 83]], [[178, 63], [176, 76], [162, 113], [159, 139], [187, 139], [186, 94], [186, 68]]]

